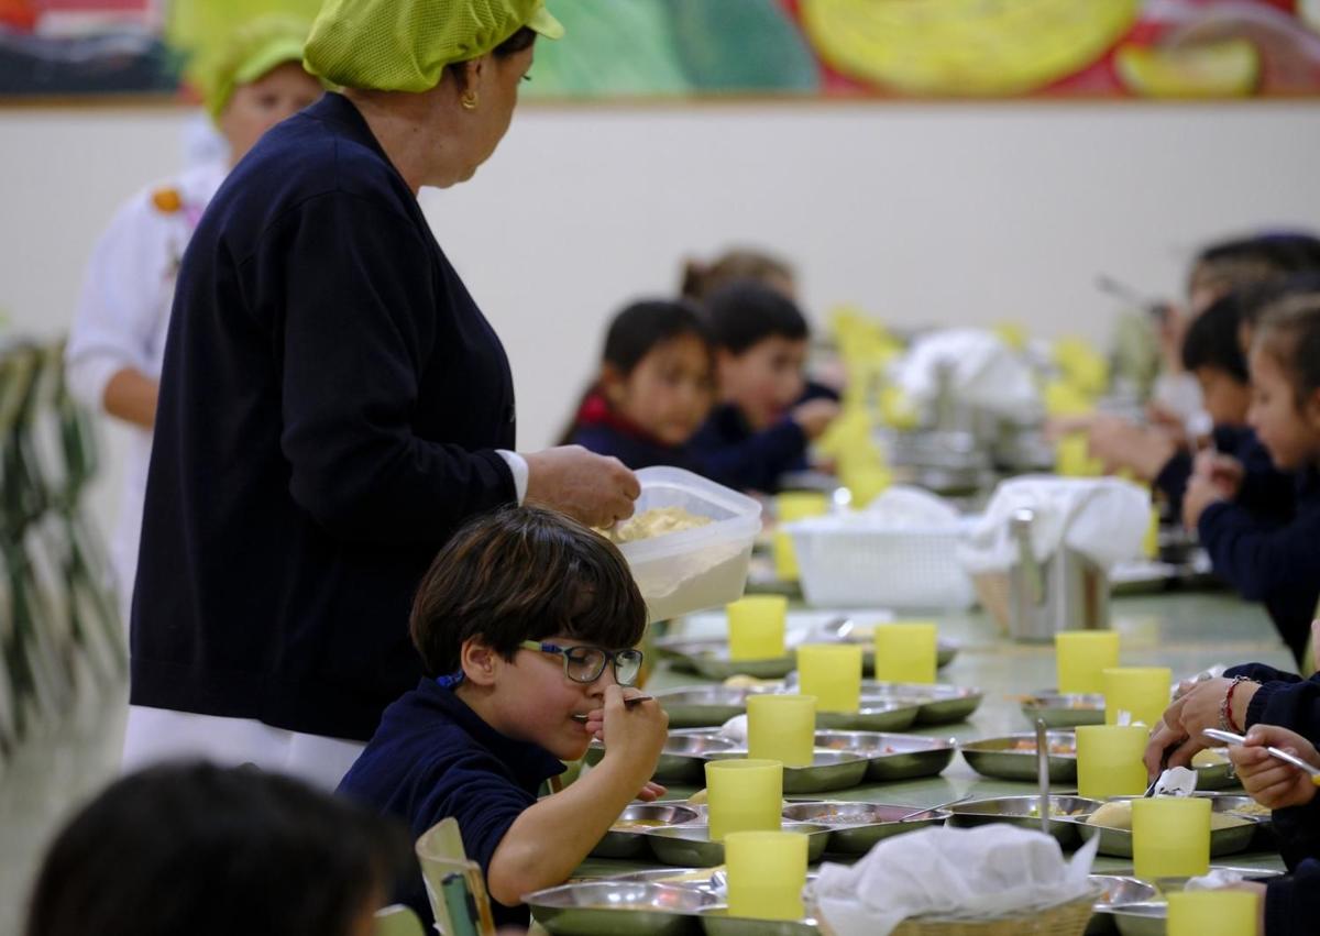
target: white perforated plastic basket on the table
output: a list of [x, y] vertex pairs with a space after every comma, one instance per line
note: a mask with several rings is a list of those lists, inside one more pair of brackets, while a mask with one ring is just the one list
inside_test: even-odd
[[966, 609], [975, 601], [957, 556], [965, 524], [894, 528], [850, 515], [784, 529], [793, 537], [803, 594], [817, 607]]

